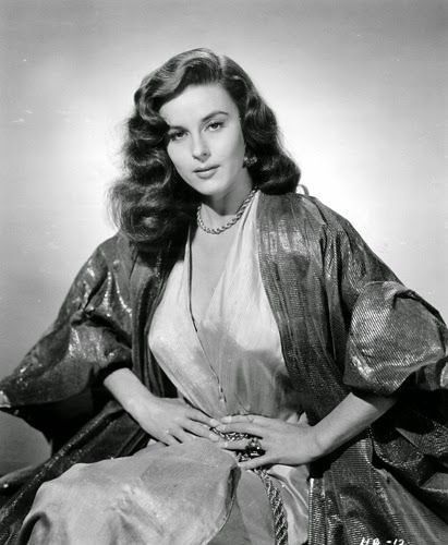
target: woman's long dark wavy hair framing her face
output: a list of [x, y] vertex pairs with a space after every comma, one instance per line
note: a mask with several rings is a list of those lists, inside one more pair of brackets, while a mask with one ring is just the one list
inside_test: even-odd
[[134, 95], [124, 175], [109, 194], [118, 227], [141, 252], [157, 253], [169, 242], [180, 243], [201, 201], [168, 156], [168, 124], [159, 110], [189, 85], [203, 84], [222, 85], [237, 105], [246, 150], [257, 158], [247, 168], [261, 191], [279, 194], [298, 186], [300, 170], [282, 148], [276, 117], [244, 70], [209, 49], [179, 53], [144, 77]]

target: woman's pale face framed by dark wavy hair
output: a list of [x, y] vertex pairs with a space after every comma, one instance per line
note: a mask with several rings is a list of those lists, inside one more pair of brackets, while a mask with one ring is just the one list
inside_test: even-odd
[[191, 187], [211, 198], [251, 189], [239, 111], [221, 85], [191, 85], [159, 113], [169, 125], [168, 155]]

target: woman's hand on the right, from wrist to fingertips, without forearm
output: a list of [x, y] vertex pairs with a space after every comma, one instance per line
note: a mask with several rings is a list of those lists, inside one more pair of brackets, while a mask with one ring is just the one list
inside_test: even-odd
[[[282, 463], [301, 465], [319, 458], [320, 449], [313, 426], [290, 424], [278, 419], [268, 419], [254, 414], [226, 416], [217, 426], [219, 432], [239, 432], [259, 438], [264, 453], [252, 460], [241, 462], [241, 469], [252, 470], [262, 465]], [[223, 441], [220, 445], [228, 450], [244, 450], [249, 439]]]

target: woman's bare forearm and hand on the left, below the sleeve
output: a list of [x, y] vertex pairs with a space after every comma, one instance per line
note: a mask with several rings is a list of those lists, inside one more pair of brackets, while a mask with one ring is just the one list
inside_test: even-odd
[[153, 438], [166, 445], [175, 445], [204, 437], [217, 441], [210, 427], [219, 424], [203, 412], [189, 407], [181, 399], [158, 398], [129, 368], [108, 375], [104, 385], [123, 409]]

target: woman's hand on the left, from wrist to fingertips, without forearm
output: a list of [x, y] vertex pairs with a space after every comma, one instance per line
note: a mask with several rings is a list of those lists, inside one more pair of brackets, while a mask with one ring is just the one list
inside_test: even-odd
[[219, 424], [181, 399], [157, 398], [148, 392], [130, 403], [129, 412], [142, 428], [166, 445], [185, 443], [197, 437], [218, 441], [210, 427]]

